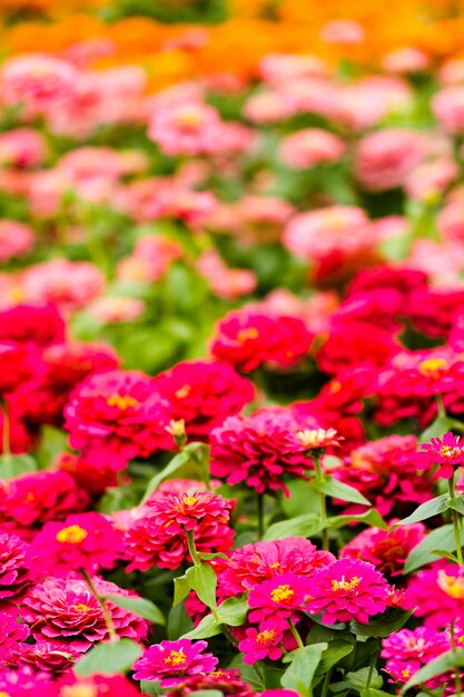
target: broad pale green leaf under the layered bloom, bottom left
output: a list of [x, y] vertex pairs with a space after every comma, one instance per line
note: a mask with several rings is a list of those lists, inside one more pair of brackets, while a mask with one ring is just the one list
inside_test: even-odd
[[103, 641], [93, 646], [77, 664], [73, 671], [80, 678], [96, 673], [100, 675], [118, 675], [130, 670], [135, 661], [142, 654], [140, 644], [131, 639], [119, 641]]

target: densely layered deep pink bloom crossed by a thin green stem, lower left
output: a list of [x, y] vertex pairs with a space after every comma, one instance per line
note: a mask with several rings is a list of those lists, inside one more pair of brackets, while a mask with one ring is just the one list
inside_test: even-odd
[[[98, 577], [93, 577], [92, 582], [100, 595], [138, 597]], [[110, 600], [107, 606], [119, 637], [136, 641], [146, 638], [148, 622]], [[80, 578], [48, 578], [34, 586], [23, 600], [21, 619], [30, 626], [34, 639], [52, 641], [65, 651], [85, 652], [93, 644], [109, 638], [101, 607]]]

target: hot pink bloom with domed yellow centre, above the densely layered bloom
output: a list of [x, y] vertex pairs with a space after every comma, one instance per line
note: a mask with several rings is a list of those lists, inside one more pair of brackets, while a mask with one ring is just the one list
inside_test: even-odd
[[124, 550], [122, 532], [110, 518], [89, 512], [48, 522], [29, 549], [32, 569], [66, 577], [70, 571], [112, 569]]

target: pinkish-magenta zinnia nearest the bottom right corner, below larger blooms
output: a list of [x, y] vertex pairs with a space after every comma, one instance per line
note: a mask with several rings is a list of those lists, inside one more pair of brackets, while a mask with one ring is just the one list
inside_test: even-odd
[[[396, 683], [407, 683], [417, 670], [450, 650], [450, 638], [442, 631], [417, 627], [401, 629], [382, 641], [383, 658], [386, 658], [385, 670]], [[435, 683], [425, 683], [432, 689]]]

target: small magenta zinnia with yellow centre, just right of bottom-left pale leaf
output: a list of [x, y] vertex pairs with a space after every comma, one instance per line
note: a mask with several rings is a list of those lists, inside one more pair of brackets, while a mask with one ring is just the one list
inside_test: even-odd
[[213, 673], [218, 659], [213, 654], [203, 654], [206, 641], [161, 641], [150, 646], [134, 665], [136, 680], [160, 680], [161, 687], [182, 681], [184, 676]]

